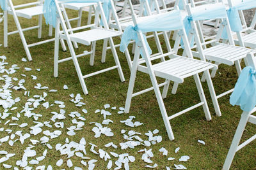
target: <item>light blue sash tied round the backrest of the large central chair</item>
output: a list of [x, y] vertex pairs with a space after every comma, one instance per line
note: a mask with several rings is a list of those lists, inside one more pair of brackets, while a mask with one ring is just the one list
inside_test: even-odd
[[[152, 15], [152, 16], [149, 16], [149, 18], [150, 19], [138, 23], [138, 25], [135, 25], [135, 26], [130, 25], [125, 29], [124, 34], [122, 35], [121, 44], [120, 44], [121, 52], [124, 52], [126, 50], [127, 46], [129, 45], [129, 42], [132, 39], [134, 39], [137, 44], [139, 43], [138, 34], [137, 34], [138, 31], [141, 31], [143, 33], [153, 32], [153, 31], [172, 31], [172, 30], [182, 29], [184, 27], [179, 10], [174, 10], [161, 15]], [[148, 53], [151, 55], [152, 50], [150, 49], [144, 34], [143, 34], [143, 38], [145, 40]], [[141, 56], [143, 57], [142, 52], [140, 53], [141, 53]]]

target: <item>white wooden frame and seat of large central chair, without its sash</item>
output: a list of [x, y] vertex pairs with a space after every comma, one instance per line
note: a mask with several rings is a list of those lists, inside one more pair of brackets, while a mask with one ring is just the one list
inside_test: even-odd
[[[157, 15], [161, 16], [161, 14], [157, 14]], [[150, 20], [152, 20], [151, 17], [152, 16], [143, 17], [143, 18], [147, 20], [147, 22], [149, 22]], [[132, 15], [132, 18], [133, 18], [134, 25], [138, 24], [139, 20], [137, 19], [136, 15]], [[163, 60], [156, 64], [152, 64], [153, 59], [148, 54], [148, 50], [145, 45], [145, 39], [143, 38], [143, 34], [140, 31], [138, 31], [137, 34], [140, 40], [140, 44], [136, 44], [134, 60], [132, 62], [131, 77], [130, 77], [129, 88], [127, 92], [127, 99], [125, 102], [125, 113], [128, 113], [130, 110], [132, 97], [138, 96], [140, 94], [143, 94], [145, 92], [148, 92], [154, 89], [154, 92], [157, 97], [157, 103], [159, 104], [159, 109], [161, 111], [161, 114], [164, 120], [164, 125], [166, 127], [166, 131], [168, 133], [168, 137], [170, 140], [174, 139], [173, 131], [169, 122], [169, 120], [172, 118], [178, 117], [179, 115], [182, 115], [183, 113], [186, 113], [199, 106], [203, 106], [206, 119], [211, 120], [211, 115], [209, 112], [207, 101], [204, 96], [204, 91], [202, 89], [202, 85], [200, 83], [198, 73], [204, 73], [205, 71], [208, 71], [209, 73], [209, 69], [217, 69], [217, 66], [209, 62], [193, 59], [193, 55], [189, 47], [188, 38], [186, 36], [185, 29], [180, 30], [178, 34], [179, 37], [177, 37], [175, 42], [176, 49], [172, 49], [170, 47], [170, 44], [168, 44], [169, 45], [168, 49], [170, 50], [170, 52], [163, 53], [163, 54], [159, 53], [159, 56], [163, 56], [165, 54], [166, 56], [170, 56], [170, 59]], [[167, 34], [165, 35], [167, 38]], [[184, 39], [184, 46], [185, 46], [185, 50], [187, 51], [188, 57], [182, 57], [177, 55], [177, 49], [179, 47], [179, 45], [177, 45], [177, 42], [180, 43], [180, 37]], [[143, 56], [144, 56], [143, 58], [144, 62], [142, 62], [141, 60], [141, 63], [145, 63], [146, 66], [140, 64], [140, 51], [143, 52]], [[159, 56], [156, 55], [155, 57], [158, 57], [157, 59], [159, 59]], [[140, 92], [133, 92], [137, 71], [141, 71], [143, 73], [149, 74], [153, 87], [141, 90]], [[166, 97], [170, 81], [174, 81], [176, 83], [183, 83], [184, 79], [188, 78], [189, 76], [193, 76], [195, 80], [196, 88], [198, 90], [198, 95], [200, 96], [200, 103], [195, 104], [194, 106], [191, 106], [183, 111], [175, 113], [171, 117], [168, 117], [164, 107], [163, 97]], [[164, 78], [166, 81], [164, 81], [164, 83], [158, 84], [156, 77]], [[211, 82], [210, 76], [208, 80]], [[164, 92], [162, 95], [159, 90], [159, 87], [161, 86], [164, 86]], [[213, 87], [209, 89], [212, 90]], [[214, 90], [211, 93], [215, 94]], [[216, 106], [218, 106], [218, 101], [216, 101], [216, 103], [217, 103]]]

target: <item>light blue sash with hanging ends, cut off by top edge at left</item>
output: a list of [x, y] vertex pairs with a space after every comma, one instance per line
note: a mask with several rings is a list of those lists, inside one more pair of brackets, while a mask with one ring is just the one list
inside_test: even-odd
[[[109, 18], [109, 9], [111, 8], [110, 0], [58, 0], [61, 3], [103, 3], [103, 10], [108, 21]], [[55, 27], [56, 25], [56, 13], [57, 8], [54, 0], [45, 0], [44, 2], [44, 17], [46, 24], [52, 25]], [[100, 23], [101, 25], [102, 22]]]

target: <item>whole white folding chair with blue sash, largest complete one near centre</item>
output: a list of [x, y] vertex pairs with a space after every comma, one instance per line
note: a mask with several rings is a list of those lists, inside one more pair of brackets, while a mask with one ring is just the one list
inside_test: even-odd
[[[122, 41], [120, 45], [120, 50], [124, 52], [124, 50], [127, 49], [127, 45], [129, 44], [129, 41], [131, 39], [135, 39], [136, 41], [136, 48], [131, 69], [131, 77], [125, 102], [125, 113], [129, 113], [132, 97], [138, 96], [150, 90], [154, 90], [157, 98], [157, 103], [159, 104], [159, 108], [164, 120], [164, 125], [166, 127], [166, 131], [170, 140], [174, 139], [172, 127], [169, 122], [172, 118], [178, 117], [183, 113], [202, 106], [206, 119], [211, 120], [211, 115], [209, 112], [207, 101], [204, 96], [204, 91], [202, 89], [198, 73], [205, 73], [207, 75], [209, 89], [211, 91], [211, 94], [214, 94], [215, 92], [212, 87], [209, 69], [217, 69], [217, 67], [216, 65], [209, 62], [193, 59], [188, 44], [188, 38], [186, 36], [186, 32], [184, 30], [184, 26], [181, 20], [180, 11], [174, 10], [168, 13], [143, 17], [143, 22], [138, 22], [139, 20], [141, 20], [141, 18], [137, 18], [136, 15], [132, 15], [132, 19], [135, 26], [130, 25], [129, 27], [127, 27], [127, 29], [125, 29], [124, 34], [122, 35]], [[177, 38], [177, 40], [175, 41], [174, 48], [172, 49], [169, 46], [170, 52], [150, 57], [150, 54], [152, 52], [143, 33], [173, 30], [179, 30], [180, 35], [179, 38]], [[188, 57], [182, 57], [177, 55], [177, 50], [180, 44], [180, 37], [184, 39], [184, 47], [185, 50], [188, 52]], [[142, 56], [141, 59], [140, 55]], [[170, 59], [156, 63], [157, 59], [161, 59], [162, 57], [166, 56], [170, 56]], [[156, 64], [152, 64], [152, 61], [154, 61], [154, 63]], [[133, 89], [137, 71], [149, 74], [153, 87], [134, 93]], [[168, 117], [159, 87], [164, 86], [163, 93], [166, 93], [170, 81], [183, 83], [184, 79], [190, 76], [193, 76], [195, 80], [196, 88], [200, 96], [200, 103], [195, 104], [194, 106], [191, 106], [185, 110], [180, 111], [179, 113], [175, 113], [174, 115]], [[158, 84], [156, 77], [164, 78], [166, 81], [164, 83]], [[218, 106], [218, 103], [216, 103], [216, 101], [214, 101], [214, 103]]]

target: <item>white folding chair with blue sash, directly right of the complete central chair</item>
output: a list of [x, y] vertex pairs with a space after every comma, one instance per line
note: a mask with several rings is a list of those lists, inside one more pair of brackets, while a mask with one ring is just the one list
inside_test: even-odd
[[[191, 1], [193, 5], [193, 1]], [[255, 50], [244, 48], [241, 46], [235, 46], [234, 39], [232, 38], [230, 25], [227, 19], [226, 8], [222, 3], [215, 4], [205, 4], [201, 6], [192, 7], [187, 5], [188, 17], [186, 17], [184, 24], [186, 31], [189, 32], [189, 42], [193, 46], [194, 37], [196, 45], [193, 48], [196, 48], [197, 51], [192, 51], [194, 57], [198, 57], [201, 60], [214, 62], [214, 64], [226, 64], [228, 66], [236, 65], [237, 74], [241, 73], [240, 60], [245, 59], [248, 53], [255, 53]], [[215, 39], [210, 41], [202, 41], [204, 35], [200, 34], [202, 31], [198, 32], [199, 21], [201, 20], [210, 20], [210, 19], [220, 19], [221, 25], [218, 34]], [[227, 31], [228, 42], [229, 44], [220, 43], [221, 32], [223, 29]], [[201, 36], [201, 38], [200, 38]], [[191, 43], [192, 42], [192, 43]], [[215, 76], [216, 70], [212, 71], [212, 78]], [[202, 77], [202, 81], [205, 81], [205, 74]], [[173, 88], [173, 93], [177, 89], [177, 83], [175, 88]], [[232, 92], [234, 89], [228, 90], [217, 97], [220, 98], [226, 94]], [[216, 113], [216, 115], [221, 116], [221, 113]]]

